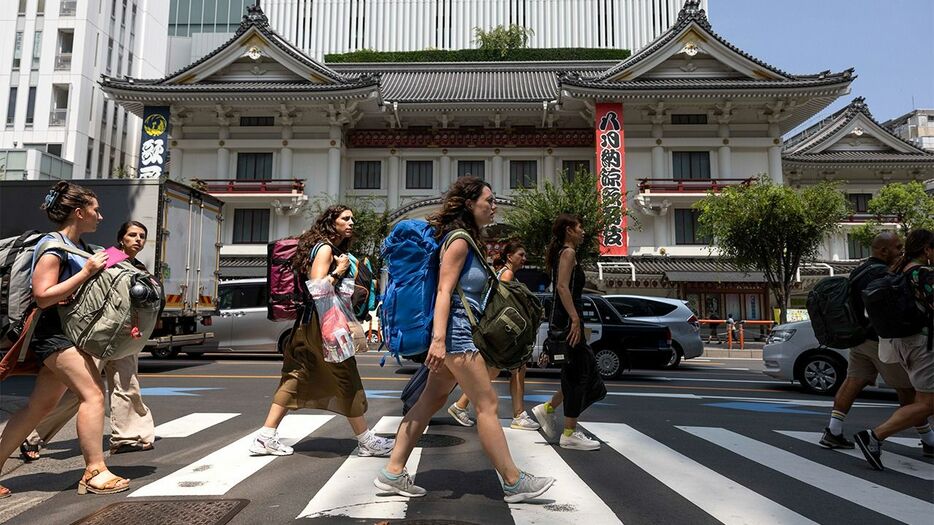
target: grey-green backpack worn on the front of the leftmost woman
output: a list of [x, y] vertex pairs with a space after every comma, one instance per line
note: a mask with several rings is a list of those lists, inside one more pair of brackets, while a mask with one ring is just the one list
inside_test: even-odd
[[[49, 250], [79, 257], [90, 253], [65, 243], [43, 243], [38, 260]], [[88, 279], [66, 303], [59, 304], [62, 330], [75, 346], [100, 359], [138, 354], [159, 319], [162, 287], [129, 261], [117, 263]]]

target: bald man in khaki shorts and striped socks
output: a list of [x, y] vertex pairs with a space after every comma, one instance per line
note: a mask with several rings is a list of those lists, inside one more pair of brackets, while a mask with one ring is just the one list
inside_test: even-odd
[[[891, 231], [882, 232], [872, 240], [870, 257], [850, 272], [850, 301], [853, 311], [858, 312], [862, 318], [862, 325], [867, 328], [866, 341], [850, 348], [846, 379], [834, 397], [830, 422], [819, 441], [820, 446], [824, 448], [854, 448], [853, 442], [843, 435], [843, 422], [853, 402], [856, 401], [856, 396], [864, 388], [874, 384], [876, 376], [881, 375], [885, 384], [895, 389], [902, 406], [914, 402], [915, 390], [902, 365], [885, 363], [879, 359], [879, 337], [865, 316], [862, 298], [866, 285], [885, 276], [889, 267], [901, 257], [903, 249], [904, 246], [898, 234]], [[934, 455], [934, 432], [931, 431], [931, 425], [922, 419], [916, 423], [915, 428], [921, 435], [925, 454]]]

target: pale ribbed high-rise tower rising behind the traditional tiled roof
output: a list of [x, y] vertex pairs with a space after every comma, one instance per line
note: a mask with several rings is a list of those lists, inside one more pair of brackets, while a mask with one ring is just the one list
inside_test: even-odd
[[[361, 49], [476, 47], [474, 29], [519, 25], [529, 47], [635, 52], [678, 19], [684, 0], [171, 0], [169, 71], [223, 44], [246, 5], [259, 3], [276, 33], [322, 60]], [[707, 7], [707, 0], [701, 1]]]

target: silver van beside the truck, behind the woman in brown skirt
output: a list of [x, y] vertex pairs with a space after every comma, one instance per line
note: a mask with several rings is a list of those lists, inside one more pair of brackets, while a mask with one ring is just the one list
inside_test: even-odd
[[214, 341], [186, 346], [187, 354], [210, 352], [279, 352], [288, 342], [292, 323], [266, 317], [266, 279], [239, 279], [218, 285], [218, 309], [211, 331]]

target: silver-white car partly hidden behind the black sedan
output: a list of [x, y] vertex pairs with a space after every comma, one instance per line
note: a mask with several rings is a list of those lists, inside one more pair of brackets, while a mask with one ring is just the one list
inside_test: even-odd
[[658, 323], [671, 329], [672, 351], [661, 363], [662, 368], [677, 368], [682, 359], [693, 359], [704, 354], [700, 323], [687, 301], [641, 295], [603, 297], [624, 319]]

